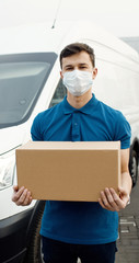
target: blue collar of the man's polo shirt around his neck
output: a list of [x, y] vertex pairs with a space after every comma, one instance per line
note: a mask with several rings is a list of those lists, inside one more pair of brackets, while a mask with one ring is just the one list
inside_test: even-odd
[[91, 113], [91, 107], [95, 107], [97, 105], [99, 101], [95, 98], [95, 95], [93, 94], [91, 100], [83, 106], [80, 108], [76, 108], [72, 107], [69, 102], [67, 101], [67, 96], [65, 96], [63, 101], [62, 101], [62, 107], [63, 107], [63, 113], [65, 114], [71, 114], [73, 112], [81, 112], [84, 114], [90, 114]]

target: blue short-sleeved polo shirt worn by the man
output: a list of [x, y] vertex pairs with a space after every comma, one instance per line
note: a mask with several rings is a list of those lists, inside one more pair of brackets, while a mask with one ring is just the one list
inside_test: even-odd
[[[124, 115], [94, 94], [79, 110], [72, 107], [66, 96], [61, 103], [36, 116], [31, 134], [33, 140], [120, 140], [121, 149], [130, 146], [130, 126]], [[46, 201], [40, 235], [68, 243], [113, 242], [118, 237], [118, 214], [103, 209], [97, 202]]]

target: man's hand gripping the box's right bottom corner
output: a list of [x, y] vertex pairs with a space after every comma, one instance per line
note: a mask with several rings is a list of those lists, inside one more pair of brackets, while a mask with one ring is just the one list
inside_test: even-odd
[[118, 187], [119, 196], [114, 188], [105, 188], [101, 192], [101, 198], [99, 198], [100, 205], [112, 211], [119, 211], [124, 209], [129, 201], [129, 194], [123, 188]]

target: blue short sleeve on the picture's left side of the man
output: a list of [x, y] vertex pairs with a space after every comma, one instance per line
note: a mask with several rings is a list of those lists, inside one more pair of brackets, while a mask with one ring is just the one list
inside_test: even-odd
[[42, 133], [40, 133], [40, 114], [38, 114], [33, 122], [31, 127], [31, 136], [34, 141], [42, 141]]

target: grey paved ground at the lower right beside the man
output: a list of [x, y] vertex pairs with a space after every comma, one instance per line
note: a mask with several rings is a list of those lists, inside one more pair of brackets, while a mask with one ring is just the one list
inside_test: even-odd
[[116, 263], [139, 263], [139, 179], [131, 202], [119, 213]]

